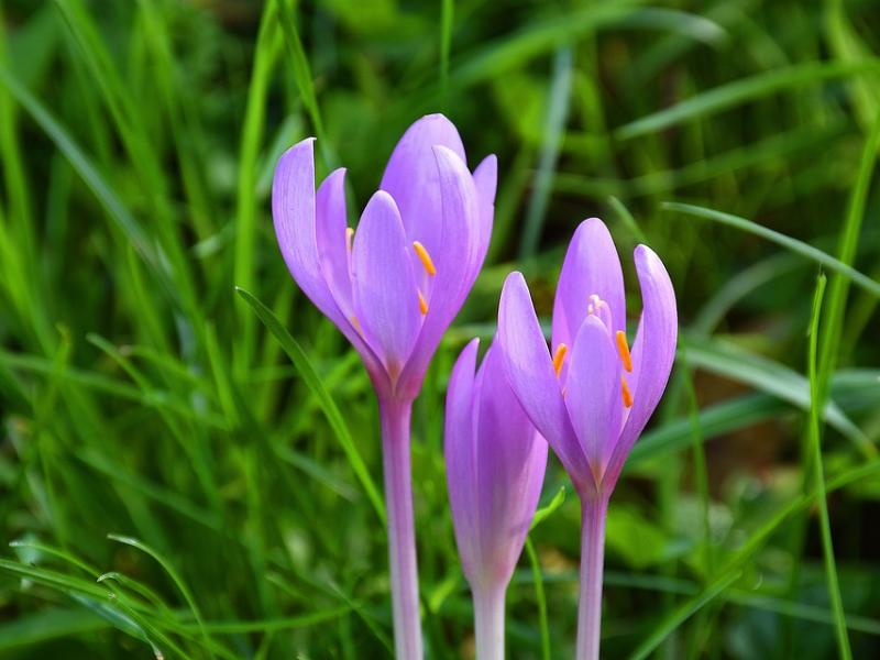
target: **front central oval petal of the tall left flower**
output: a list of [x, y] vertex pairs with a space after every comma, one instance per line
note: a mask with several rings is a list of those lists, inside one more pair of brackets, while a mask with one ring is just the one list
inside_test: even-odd
[[395, 382], [418, 337], [421, 312], [400, 215], [382, 190], [367, 202], [354, 234], [352, 292], [366, 342]]

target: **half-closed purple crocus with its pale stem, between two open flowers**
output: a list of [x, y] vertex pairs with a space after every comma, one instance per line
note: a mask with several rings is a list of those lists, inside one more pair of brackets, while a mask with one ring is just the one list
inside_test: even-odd
[[474, 376], [477, 345], [465, 346], [449, 381], [447, 482], [474, 600], [476, 657], [503, 660], [505, 593], [541, 495], [547, 441], [507, 384], [497, 346]]

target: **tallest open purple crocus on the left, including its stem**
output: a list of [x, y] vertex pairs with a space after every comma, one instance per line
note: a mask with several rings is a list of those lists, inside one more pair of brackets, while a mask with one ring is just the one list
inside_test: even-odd
[[344, 169], [315, 190], [314, 139], [278, 161], [272, 215], [302, 292], [352, 343], [380, 399], [395, 647], [421, 658], [409, 415], [440, 338], [488, 246], [496, 162], [471, 174], [455, 127], [425, 117], [398, 142], [356, 231], [348, 227]]

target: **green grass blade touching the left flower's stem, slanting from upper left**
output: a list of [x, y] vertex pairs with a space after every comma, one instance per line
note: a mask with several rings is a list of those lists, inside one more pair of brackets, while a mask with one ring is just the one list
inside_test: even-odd
[[337, 440], [339, 440], [339, 443], [342, 446], [342, 450], [345, 452], [345, 458], [349, 460], [354, 474], [358, 476], [361, 485], [366, 492], [366, 496], [373, 504], [376, 515], [378, 515], [380, 519], [382, 519], [384, 522], [385, 505], [382, 502], [378, 490], [373, 482], [373, 477], [370, 476], [370, 472], [367, 471], [366, 465], [364, 464], [364, 461], [361, 458], [356, 446], [354, 444], [354, 440], [351, 437], [351, 432], [349, 431], [349, 427], [345, 424], [342, 414], [330, 396], [330, 393], [327, 392], [321, 383], [318, 372], [311, 364], [311, 360], [309, 360], [302, 348], [290, 336], [290, 333], [287, 332], [287, 330], [284, 328], [284, 326], [282, 326], [280, 321], [275, 317], [275, 315], [272, 314], [272, 310], [268, 307], [263, 305], [256, 297], [253, 296], [253, 294], [250, 294], [242, 288], [237, 288], [237, 290], [238, 294], [248, 302], [248, 305], [251, 306], [263, 324], [265, 324], [270, 332], [275, 336], [275, 339], [280, 342], [282, 348], [284, 349], [285, 353], [287, 353], [287, 356], [290, 358], [290, 361], [294, 363], [294, 366], [296, 366], [299, 375], [306, 382], [306, 385], [308, 385], [309, 389], [311, 389], [315, 396], [318, 397], [321, 409], [327, 416], [327, 420], [330, 422], [330, 427], [333, 429]]

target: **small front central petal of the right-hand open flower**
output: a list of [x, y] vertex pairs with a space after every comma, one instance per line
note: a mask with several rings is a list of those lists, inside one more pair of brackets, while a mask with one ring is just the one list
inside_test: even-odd
[[596, 484], [620, 433], [620, 360], [605, 324], [588, 316], [578, 331], [565, 382], [565, 406]]

